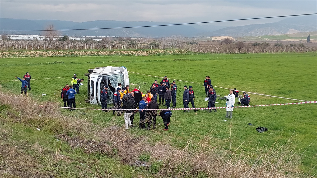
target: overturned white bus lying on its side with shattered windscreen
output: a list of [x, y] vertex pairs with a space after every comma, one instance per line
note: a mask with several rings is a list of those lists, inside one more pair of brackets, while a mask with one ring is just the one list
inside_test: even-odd
[[113, 93], [115, 92], [118, 83], [122, 87], [129, 85], [129, 74], [125, 67], [96, 67], [89, 69], [88, 77], [88, 101], [90, 104], [101, 105], [101, 91], [105, 85], [108, 85], [108, 99], [107, 103], [113, 103]]

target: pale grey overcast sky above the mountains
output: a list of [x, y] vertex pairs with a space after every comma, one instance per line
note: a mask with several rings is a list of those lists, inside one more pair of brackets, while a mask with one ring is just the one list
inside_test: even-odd
[[[120, 20], [190, 23], [317, 12], [317, 0], [265, 1], [96, 1], [0, 0], [0, 17], [68, 21]], [[222, 22], [240, 26], [276, 22], [281, 18]], [[211, 24], [210, 24], [211, 25]]]

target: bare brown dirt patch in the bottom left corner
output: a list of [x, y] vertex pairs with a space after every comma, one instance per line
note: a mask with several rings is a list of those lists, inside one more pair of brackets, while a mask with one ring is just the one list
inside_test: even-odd
[[40, 171], [42, 165], [17, 147], [0, 144], [0, 177], [3, 178], [54, 178]]

